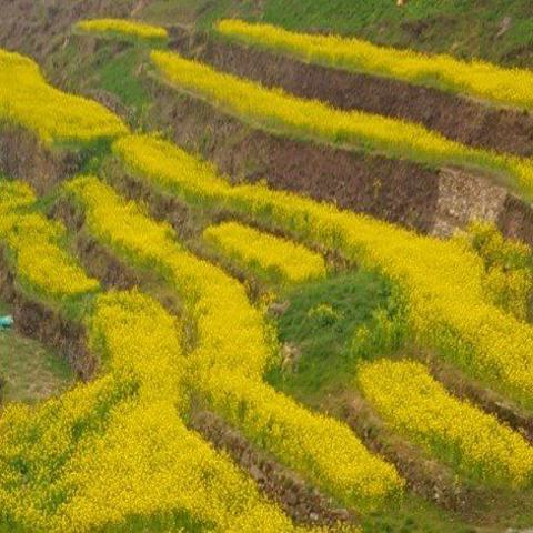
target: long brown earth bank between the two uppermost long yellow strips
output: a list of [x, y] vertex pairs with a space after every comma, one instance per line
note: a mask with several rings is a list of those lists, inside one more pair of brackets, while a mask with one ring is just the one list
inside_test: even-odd
[[181, 53], [265, 87], [282, 87], [339, 109], [419, 122], [472, 147], [533, 154], [533, 117], [529, 113], [393, 79], [328, 69], [205, 36], [191, 37], [180, 28], [173, 33], [173, 47]]

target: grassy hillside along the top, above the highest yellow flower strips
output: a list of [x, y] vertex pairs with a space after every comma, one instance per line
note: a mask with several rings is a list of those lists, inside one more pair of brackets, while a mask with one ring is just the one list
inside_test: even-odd
[[241, 17], [504, 64], [533, 63], [529, 0], [411, 0], [402, 8], [393, 0], [13, 0], [2, 10], [0, 43], [39, 59], [64, 43], [78, 19], [132, 16], [201, 28], [218, 18]]

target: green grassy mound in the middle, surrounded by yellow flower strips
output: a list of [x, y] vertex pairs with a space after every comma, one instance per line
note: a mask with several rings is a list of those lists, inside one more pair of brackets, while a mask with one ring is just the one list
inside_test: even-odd
[[269, 380], [284, 392], [312, 403], [353, 380], [358, 358], [355, 330], [371, 324], [388, 305], [391, 286], [378, 273], [359, 270], [319, 280], [286, 294], [288, 310], [278, 319], [282, 344], [301, 352], [294, 372], [272, 370]]

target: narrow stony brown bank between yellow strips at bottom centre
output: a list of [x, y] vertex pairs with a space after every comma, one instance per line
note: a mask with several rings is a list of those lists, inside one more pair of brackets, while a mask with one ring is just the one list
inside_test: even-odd
[[331, 526], [354, 522], [355, 516], [348, 510], [336, 507], [331, 499], [252, 446], [244, 436], [215, 414], [205, 411], [195, 413], [190, 425], [217, 450], [229, 453], [233, 461], [252, 476], [261, 491], [296, 523]]

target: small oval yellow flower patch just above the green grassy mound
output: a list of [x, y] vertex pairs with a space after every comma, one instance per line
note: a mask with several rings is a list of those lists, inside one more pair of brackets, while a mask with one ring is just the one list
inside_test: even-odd
[[238, 222], [210, 225], [203, 238], [217, 250], [268, 279], [301, 283], [325, 275], [325, 261], [319, 253]]

